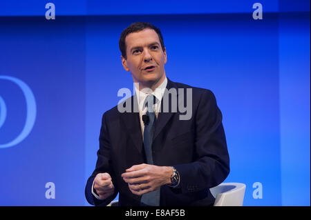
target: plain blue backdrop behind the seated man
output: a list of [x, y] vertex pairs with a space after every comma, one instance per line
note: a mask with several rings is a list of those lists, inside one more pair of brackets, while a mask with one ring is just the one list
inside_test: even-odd
[[169, 79], [216, 95], [244, 205], [310, 206], [310, 1], [261, 1], [256, 20], [248, 0], [55, 0], [46, 19], [48, 2], [1, 1], [1, 206], [87, 205], [102, 114], [133, 92], [118, 40], [135, 21], [161, 28]]

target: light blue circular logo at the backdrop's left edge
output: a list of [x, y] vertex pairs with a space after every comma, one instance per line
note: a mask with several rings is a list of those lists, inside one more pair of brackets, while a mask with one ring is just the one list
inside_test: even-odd
[[[21, 91], [23, 92], [25, 99], [26, 99], [26, 123], [25, 126], [23, 126], [23, 130], [21, 133], [12, 141], [8, 143], [0, 143], [0, 148], [10, 148], [12, 146], [17, 145], [23, 139], [26, 139], [28, 134], [31, 132], [33, 125], [35, 124], [36, 114], [37, 114], [37, 106], [35, 101], [35, 96], [33, 95], [32, 91], [30, 90], [29, 86], [27, 86], [26, 83], [21, 81], [20, 79], [17, 79], [15, 77], [9, 77], [9, 76], [1, 76], [0, 80], [8, 80], [12, 81], [21, 88]], [[3, 126], [4, 121], [6, 121], [6, 103], [3, 101], [2, 97], [0, 96], [0, 128]]]

